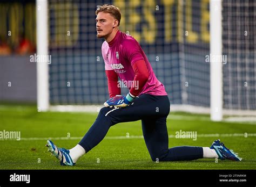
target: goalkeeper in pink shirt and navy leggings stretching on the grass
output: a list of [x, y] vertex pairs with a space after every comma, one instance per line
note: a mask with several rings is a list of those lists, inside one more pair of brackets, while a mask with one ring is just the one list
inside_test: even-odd
[[[201, 158], [238, 160], [240, 157], [219, 140], [211, 147], [168, 147], [166, 118], [170, 102], [164, 85], [158, 81], [143, 49], [138, 42], [119, 31], [121, 13], [113, 5], [102, 5], [96, 10], [97, 38], [104, 38], [102, 55], [110, 99], [107, 100], [95, 123], [83, 139], [68, 150], [58, 148], [51, 140], [46, 146], [62, 165], [73, 166], [80, 156], [103, 140], [109, 128], [118, 123], [142, 120], [144, 140], [152, 161], [181, 161]], [[118, 77], [128, 85], [129, 93], [120, 96]], [[135, 86], [136, 85], [136, 86]]]

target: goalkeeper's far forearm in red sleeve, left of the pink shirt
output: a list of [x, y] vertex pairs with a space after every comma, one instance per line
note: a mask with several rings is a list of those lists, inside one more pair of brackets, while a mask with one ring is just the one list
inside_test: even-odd
[[121, 94], [121, 89], [118, 87], [118, 76], [114, 70], [105, 70], [107, 76], [107, 87], [109, 88], [109, 97], [114, 97]]

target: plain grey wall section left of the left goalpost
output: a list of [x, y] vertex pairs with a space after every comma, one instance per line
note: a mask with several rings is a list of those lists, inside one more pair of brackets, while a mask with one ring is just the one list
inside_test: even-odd
[[36, 63], [29, 56], [1, 56], [0, 62], [0, 102], [36, 103]]

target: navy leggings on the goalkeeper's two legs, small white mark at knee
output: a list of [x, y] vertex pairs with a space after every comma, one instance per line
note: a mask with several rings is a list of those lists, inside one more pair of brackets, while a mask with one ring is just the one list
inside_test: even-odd
[[103, 140], [109, 128], [122, 122], [142, 120], [144, 140], [153, 161], [179, 161], [203, 158], [202, 147], [168, 147], [166, 118], [170, 112], [168, 96], [140, 95], [125, 108], [103, 107], [79, 142], [86, 153]]

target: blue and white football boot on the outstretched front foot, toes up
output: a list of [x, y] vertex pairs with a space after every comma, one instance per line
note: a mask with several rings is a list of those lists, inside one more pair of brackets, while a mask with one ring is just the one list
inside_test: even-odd
[[71, 156], [69, 155], [69, 150], [65, 148], [58, 148], [51, 140], [47, 140], [45, 145], [48, 147], [48, 151], [52, 153], [59, 161], [62, 166], [74, 166]]

